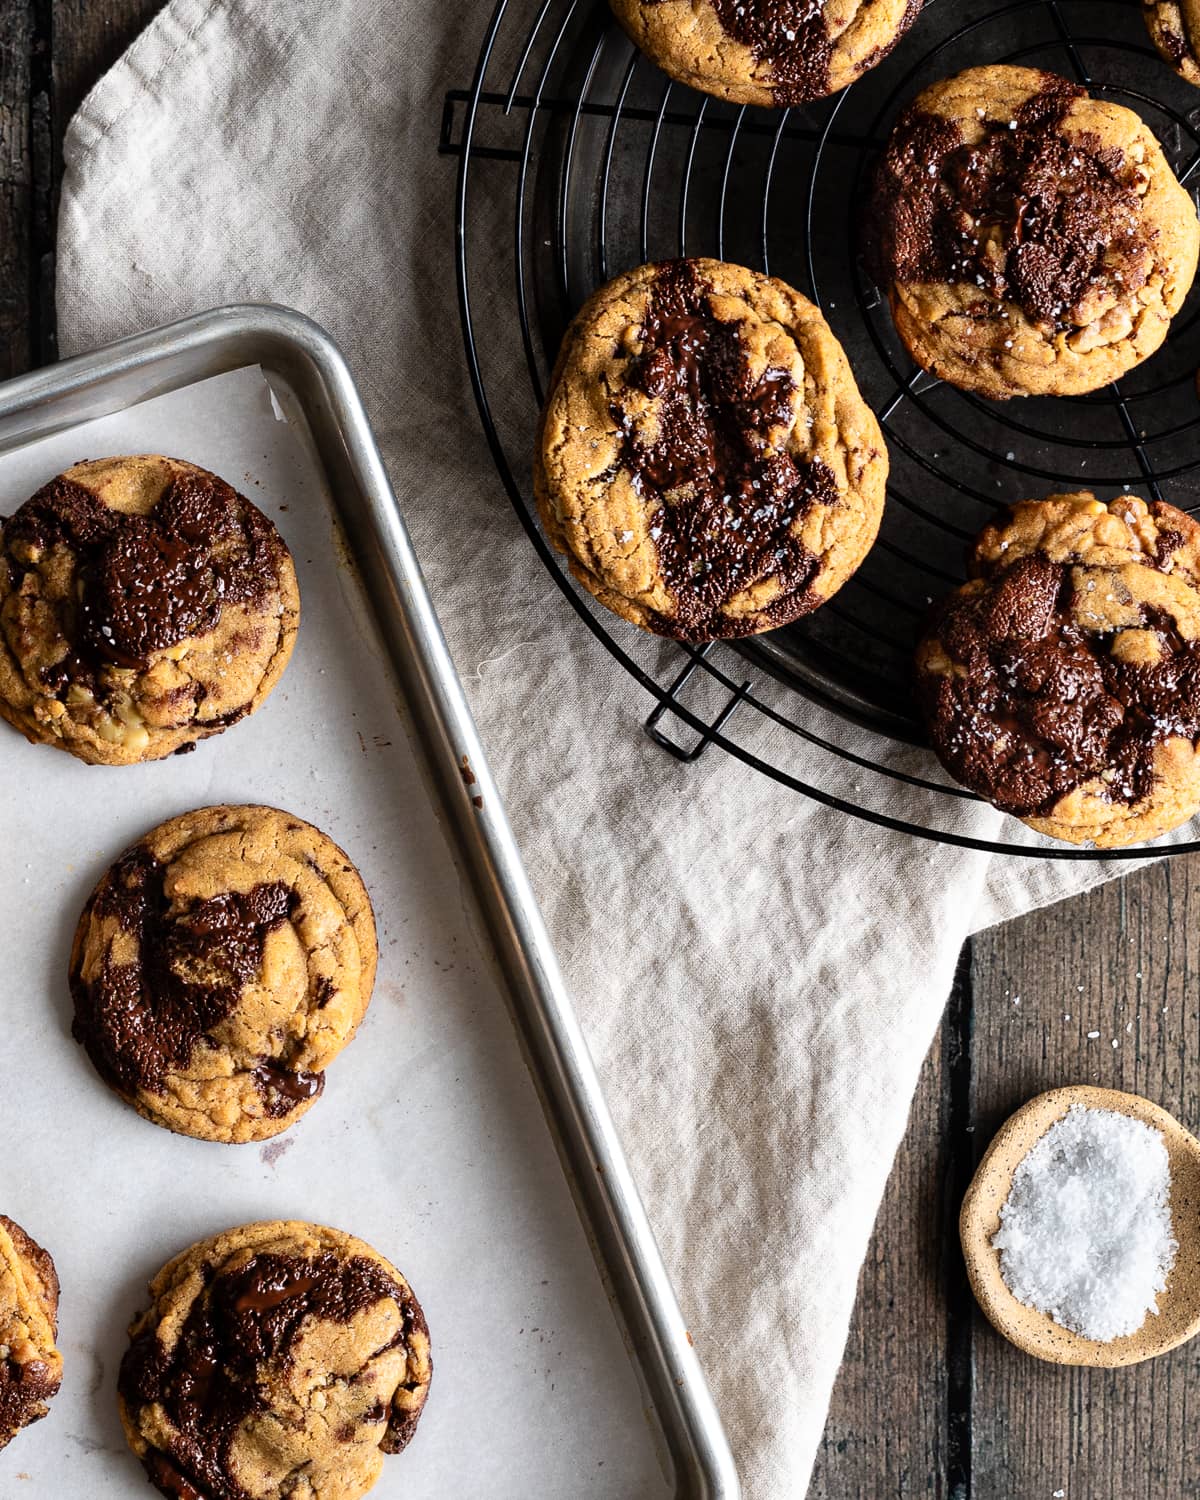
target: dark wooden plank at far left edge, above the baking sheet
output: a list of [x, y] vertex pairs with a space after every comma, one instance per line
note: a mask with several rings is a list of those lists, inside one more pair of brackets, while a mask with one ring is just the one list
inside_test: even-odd
[[30, 68], [33, 6], [0, 4], [0, 380], [30, 363]]

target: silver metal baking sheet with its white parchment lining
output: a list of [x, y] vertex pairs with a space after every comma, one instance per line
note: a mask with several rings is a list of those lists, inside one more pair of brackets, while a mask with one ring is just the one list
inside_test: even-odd
[[[384, 1466], [381, 1500], [734, 1500], [720, 1424], [336, 348], [285, 309], [219, 309], [0, 387], [0, 512], [117, 452], [190, 459], [254, 498], [292, 549], [303, 618], [266, 706], [192, 756], [94, 768], [0, 726], [0, 1209], [56, 1257], [66, 1360], [51, 1416], [0, 1454], [0, 1497], [146, 1494], [114, 1380], [147, 1278], [219, 1228], [296, 1216], [376, 1245], [429, 1317], [430, 1400]], [[357, 1040], [315, 1108], [258, 1146], [148, 1125], [69, 1034], [66, 957], [94, 880], [153, 824], [222, 801], [324, 828], [380, 922]]]

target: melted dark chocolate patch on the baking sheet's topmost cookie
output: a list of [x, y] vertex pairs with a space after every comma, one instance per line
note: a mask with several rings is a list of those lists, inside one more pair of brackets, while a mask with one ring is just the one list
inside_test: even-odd
[[146, 516], [111, 510], [56, 478], [4, 522], [14, 591], [36, 564], [15, 555], [66, 546], [81, 585], [60, 618], [68, 656], [46, 687], [96, 688], [105, 666], [146, 668], [154, 652], [207, 634], [228, 604], [261, 604], [279, 586], [282, 542], [256, 507], [214, 474], [180, 474]]

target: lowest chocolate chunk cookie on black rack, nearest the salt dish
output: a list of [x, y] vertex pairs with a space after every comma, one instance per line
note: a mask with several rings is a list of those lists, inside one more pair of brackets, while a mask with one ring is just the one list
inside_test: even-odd
[[1038, 832], [1118, 848], [1200, 810], [1200, 525], [1089, 494], [1014, 506], [916, 654], [946, 770]]

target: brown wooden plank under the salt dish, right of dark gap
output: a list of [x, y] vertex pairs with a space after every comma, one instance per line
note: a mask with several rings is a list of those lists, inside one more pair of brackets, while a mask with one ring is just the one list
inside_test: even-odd
[[[1200, 1125], [1200, 1068], [1188, 1065], [1198, 970], [1197, 858], [1142, 870], [976, 939], [976, 1154], [1024, 1100], [1064, 1083], [1144, 1094]], [[1196, 1346], [1126, 1371], [1059, 1370], [975, 1318], [974, 1500], [1200, 1494], [1188, 1422], [1200, 1402]]]

